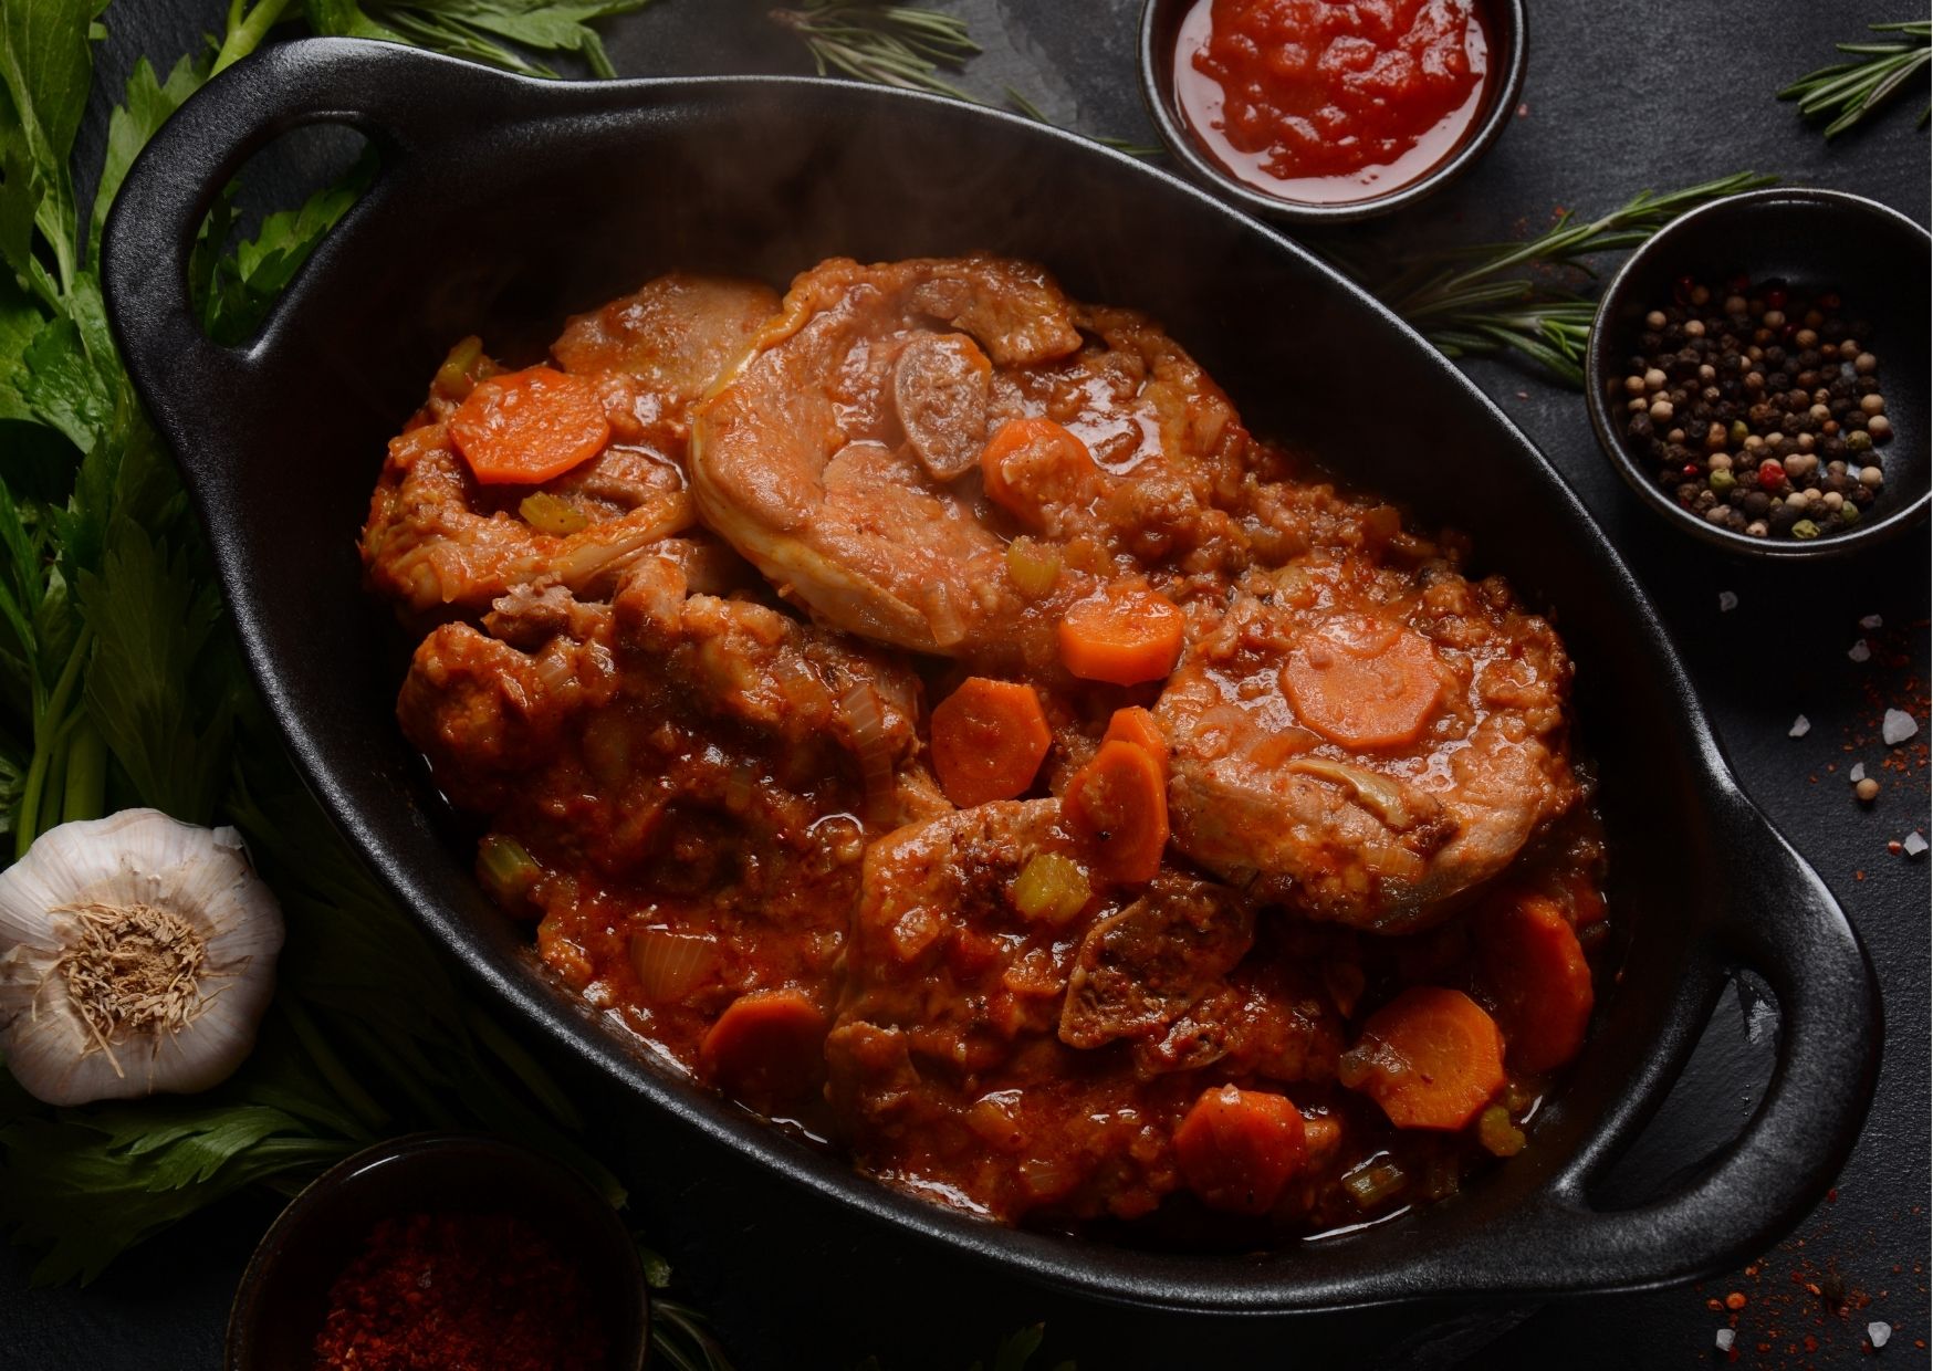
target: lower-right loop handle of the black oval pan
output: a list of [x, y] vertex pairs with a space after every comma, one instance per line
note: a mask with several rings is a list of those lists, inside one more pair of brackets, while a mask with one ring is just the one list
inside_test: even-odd
[[1860, 936], [1765, 814], [1732, 787], [1722, 795], [1713, 801], [1726, 891], [1717, 959], [1688, 973], [1717, 982], [1730, 965], [1771, 986], [1771, 1085], [1738, 1141], [1666, 1199], [1599, 1211], [1589, 1185], [1622, 1149], [1577, 1158], [1527, 1224], [1552, 1257], [1537, 1280], [1543, 1292], [1659, 1286], [1757, 1257], [1832, 1185], [1873, 1100], [1881, 1006]]

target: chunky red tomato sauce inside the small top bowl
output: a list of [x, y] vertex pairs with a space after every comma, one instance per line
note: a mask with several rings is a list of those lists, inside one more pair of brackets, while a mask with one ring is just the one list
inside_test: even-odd
[[1266, 195], [1347, 203], [1421, 180], [1483, 114], [1469, 0], [1198, 0], [1175, 99], [1202, 149]]

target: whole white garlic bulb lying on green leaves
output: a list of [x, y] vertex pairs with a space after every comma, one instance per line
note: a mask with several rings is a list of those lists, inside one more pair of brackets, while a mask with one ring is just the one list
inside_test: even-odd
[[0, 1052], [48, 1104], [205, 1091], [255, 1044], [280, 949], [236, 830], [62, 824], [0, 872]]

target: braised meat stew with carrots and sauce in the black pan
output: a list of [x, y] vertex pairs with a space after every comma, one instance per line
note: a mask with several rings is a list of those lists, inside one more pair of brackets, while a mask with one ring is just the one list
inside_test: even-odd
[[361, 547], [559, 982], [887, 1183], [1322, 1232], [1519, 1151], [1583, 1040], [1550, 625], [1038, 267], [464, 340]]

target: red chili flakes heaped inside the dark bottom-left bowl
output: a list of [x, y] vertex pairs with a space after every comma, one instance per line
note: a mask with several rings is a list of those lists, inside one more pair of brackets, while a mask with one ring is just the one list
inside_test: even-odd
[[582, 1269], [512, 1214], [385, 1218], [329, 1290], [315, 1371], [601, 1371]]

